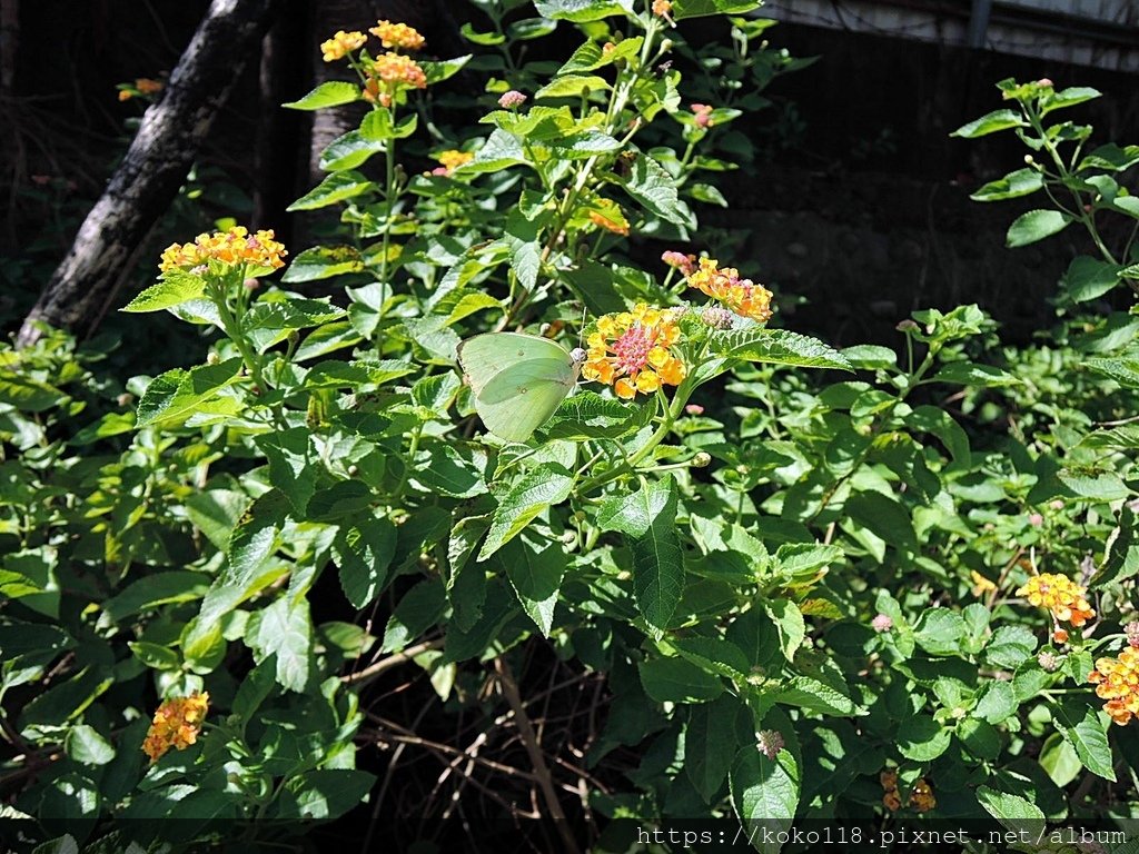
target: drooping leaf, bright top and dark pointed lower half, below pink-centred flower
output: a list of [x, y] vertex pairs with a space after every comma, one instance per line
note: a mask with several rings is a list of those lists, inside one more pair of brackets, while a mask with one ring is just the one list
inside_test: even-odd
[[667, 627], [685, 589], [677, 498], [677, 483], [665, 475], [642, 483], [633, 495], [607, 499], [597, 515], [603, 531], [620, 531], [628, 537], [637, 608], [650, 626], [661, 630]]

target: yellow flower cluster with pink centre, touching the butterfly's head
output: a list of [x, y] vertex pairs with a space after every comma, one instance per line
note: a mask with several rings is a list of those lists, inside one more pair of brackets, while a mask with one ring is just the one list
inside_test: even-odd
[[685, 363], [669, 350], [679, 340], [673, 311], [638, 303], [632, 311], [598, 318], [581, 373], [612, 385], [622, 400], [638, 392], [652, 394], [662, 385], [680, 385]]

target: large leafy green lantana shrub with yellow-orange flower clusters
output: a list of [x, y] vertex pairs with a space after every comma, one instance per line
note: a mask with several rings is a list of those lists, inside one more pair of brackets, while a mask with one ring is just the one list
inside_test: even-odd
[[[388, 790], [358, 767], [375, 745], [425, 744], [367, 692], [398, 667], [440, 714], [517, 729], [559, 849], [685, 821], [760, 851], [793, 824], [953, 823], [978, 851], [1126, 828], [1139, 319], [1024, 351], [972, 305], [902, 320], [896, 350], [769, 326], [778, 299], [702, 254], [696, 217], [731, 105], [790, 67], [735, 17], [755, 3], [476, 5], [480, 56], [424, 59], [399, 22], [320, 46], [358, 79], [288, 106], [366, 112], [293, 207], [339, 210], [344, 241], [171, 246], [125, 311], [200, 328], [199, 364], [120, 386], [59, 334], [0, 354], [6, 844], [280, 849]], [[732, 48], [686, 47], [711, 15]], [[564, 63], [518, 59], [555, 28]], [[691, 101], [682, 67], [723, 73]], [[433, 88], [460, 72], [486, 109], [452, 138]], [[978, 196], [1076, 199], [1010, 244], [1080, 220], [1104, 257], [1073, 262], [1070, 307], [1132, 282], [1096, 213], [1139, 216], [1117, 180], [1139, 149], [1042, 124], [1091, 90], [1001, 89], [1023, 113], [959, 134], [1015, 130], [1051, 165]], [[312, 281], [337, 296], [290, 290]], [[507, 347], [465, 381], [460, 345], [503, 331], [566, 360]], [[554, 395], [531, 437], [485, 429], [527, 395]], [[535, 648], [604, 676], [576, 755], [532, 723]]]

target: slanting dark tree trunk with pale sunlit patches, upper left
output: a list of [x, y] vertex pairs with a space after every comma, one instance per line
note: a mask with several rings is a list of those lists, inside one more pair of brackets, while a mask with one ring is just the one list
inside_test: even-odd
[[103, 197], [24, 320], [89, 335], [103, 319], [154, 223], [165, 213], [241, 67], [255, 56], [277, 0], [213, 0]]

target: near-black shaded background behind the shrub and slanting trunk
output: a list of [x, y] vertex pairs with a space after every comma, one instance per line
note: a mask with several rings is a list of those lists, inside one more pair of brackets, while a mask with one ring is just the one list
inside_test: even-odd
[[[169, 72], [206, 6], [19, 3], [15, 87], [0, 101], [6, 327], [34, 301], [141, 114], [140, 101], [117, 100], [116, 83]], [[478, 15], [464, 3], [454, 13]], [[727, 28], [697, 20], [685, 33], [702, 43], [724, 39]], [[981, 303], [1010, 340], [1047, 326], [1054, 317], [1047, 297], [1072, 255], [1085, 249], [1082, 233], [1072, 228], [1038, 246], [1006, 249], [1008, 223], [1033, 205], [978, 205], [968, 194], [1019, 167], [1025, 149], [1010, 134], [966, 141], [948, 133], [1001, 106], [998, 80], [1048, 76], [1057, 87], [1105, 93], [1071, 112], [1096, 126], [1097, 141], [1134, 141], [1136, 75], [793, 24], [768, 34], [775, 47], [820, 59], [777, 80], [765, 92], [775, 105], [734, 126], [755, 141], [755, 161], [722, 181], [729, 208], [700, 206], [700, 243], [693, 248], [730, 258], [777, 291], [784, 322], [836, 344], [890, 339], [910, 311], [961, 302]], [[309, 55], [296, 57], [306, 72], [325, 35], [310, 35]], [[563, 25], [548, 50], [574, 40]], [[179, 200], [156, 244], [196, 233], [218, 216], [247, 214], [256, 97], [251, 64], [215, 124], [192, 198]], [[308, 189], [301, 172], [279, 176], [289, 194]], [[654, 244], [633, 247], [646, 264], [658, 252]]]

